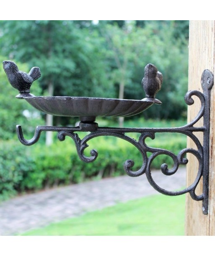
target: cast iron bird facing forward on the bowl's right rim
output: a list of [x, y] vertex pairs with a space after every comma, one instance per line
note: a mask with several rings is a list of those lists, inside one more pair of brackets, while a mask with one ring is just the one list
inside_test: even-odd
[[147, 98], [155, 98], [155, 94], [161, 90], [161, 84], [163, 82], [163, 75], [153, 64], [145, 66], [145, 74], [142, 79], [142, 87], [145, 90], [145, 96]]

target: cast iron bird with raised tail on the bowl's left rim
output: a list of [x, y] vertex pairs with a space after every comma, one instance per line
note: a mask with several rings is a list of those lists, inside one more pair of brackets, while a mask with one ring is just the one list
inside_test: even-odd
[[30, 93], [31, 84], [41, 76], [38, 67], [32, 68], [27, 74], [19, 71], [18, 66], [13, 61], [3, 61], [3, 68], [10, 84], [20, 93]]

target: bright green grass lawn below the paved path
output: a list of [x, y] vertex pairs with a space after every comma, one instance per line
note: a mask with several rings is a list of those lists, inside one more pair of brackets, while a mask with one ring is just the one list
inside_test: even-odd
[[185, 195], [153, 195], [21, 235], [184, 235]]

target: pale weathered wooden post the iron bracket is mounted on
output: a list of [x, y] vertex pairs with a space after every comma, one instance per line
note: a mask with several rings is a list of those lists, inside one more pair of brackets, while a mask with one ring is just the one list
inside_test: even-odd
[[[190, 21], [189, 25], [189, 90], [200, 90], [201, 75], [204, 69], [215, 73], [215, 21]], [[195, 100], [195, 99], [194, 99]], [[188, 108], [188, 121], [194, 119], [200, 109], [199, 100]], [[210, 115], [210, 158], [209, 158], [209, 213], [202, 214], [202, 201], [194, 201], [189, 194], [186, 196], [185, 235], [215, 235], [215, 85], [211, 90]], [[201, 125], [201, 121], [199, 123]], [[201, 132], [197, 133], [202, 142]], [[188, 138], [188, 148], [195, 148]], [[198, 161], [189, 154], [187, 164], [187, 185], [194, 181]], [[200, 184], [197, 194], [202, 193]]]

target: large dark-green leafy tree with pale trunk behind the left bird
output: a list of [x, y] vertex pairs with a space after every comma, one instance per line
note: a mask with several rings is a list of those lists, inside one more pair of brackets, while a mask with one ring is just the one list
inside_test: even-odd
[[[29, 66], [39, 66], [40, 84], [47, 95], [100, 96], [104, 88], [112, 91], [96, 32], [80, 30], [73, 21], [1, 24], [2, 52]], [[52, 116], [47, 115], [47, 125], [52, 122]], [[47, 144], [52, 142], [50, 136], [49, 132]]]

